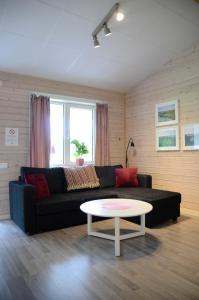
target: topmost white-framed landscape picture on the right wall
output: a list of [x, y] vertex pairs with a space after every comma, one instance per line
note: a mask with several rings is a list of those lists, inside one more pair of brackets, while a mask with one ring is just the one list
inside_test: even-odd
[[178, 123], [178, 100], [156, 105], [156, 126]]

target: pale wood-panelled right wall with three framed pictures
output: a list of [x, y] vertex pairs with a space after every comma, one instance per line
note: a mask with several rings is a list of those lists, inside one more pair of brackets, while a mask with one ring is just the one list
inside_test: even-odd
[[[182, 193], [182, 205], [199, 210], [199, 150], [157, 152], [155, 105], [179, 99], [179, 128], [199, 123], [199, 46], [170, 61], [126, 96], [126, 142], [135, 142], [130, 165], [153, 176], [153, 187]], [[180, 134], [181, 136], [181, 134]]]

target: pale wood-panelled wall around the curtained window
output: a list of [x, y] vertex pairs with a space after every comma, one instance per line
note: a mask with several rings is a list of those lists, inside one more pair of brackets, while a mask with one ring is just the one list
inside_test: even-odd
[[[111, 163], [124, 162], [124, 94], [0, 72], [0, 218], [9, 216], [8, 182], [16, 180], [21, 166], [29, 165], [30, 92], [104, 101], [109, 104]], [[5, 146], [5, 128], [19, 128], [19, 146]]]

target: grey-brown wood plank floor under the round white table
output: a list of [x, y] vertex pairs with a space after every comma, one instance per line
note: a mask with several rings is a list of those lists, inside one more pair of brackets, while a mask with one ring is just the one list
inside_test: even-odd
[[[112, 221], [95, 227], [110, 230]], [[114, 256], [113, 241], [87, 237], [86, 225], [28, 237], [2, 221], [0, 299], [199, 299], [197, 216], [122, 241], [121, 253]]]

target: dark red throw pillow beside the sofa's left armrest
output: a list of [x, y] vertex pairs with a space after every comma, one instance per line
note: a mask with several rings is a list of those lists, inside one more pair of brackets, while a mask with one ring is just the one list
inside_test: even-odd
[[48, 183], [44, 174], [25, 175], [25, 183], [34, 185], [38, 199], [50, 196]]

